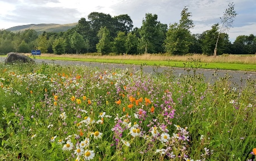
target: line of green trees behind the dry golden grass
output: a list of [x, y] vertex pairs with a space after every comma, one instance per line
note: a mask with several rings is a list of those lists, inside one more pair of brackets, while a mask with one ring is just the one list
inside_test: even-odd
[[228, 33], [220, 32], [220, 24], [200, 34], [191, 34], [195, 25], [187, 7], [181, 11], [178, 23], [167, 26], [157, 20], [157, 14], [146, 13], [141, 28], [133, 28], [127, 14], [91, 12], [88, 19], [81, 18], [76, 27], [66, 32], [37, 33], [33, 29], [13, 33], [0, 30], [0, 54], [9, 52], [30, 53], [40, 49], [42, 53], [102, 53], [142, 54], [189, 53], [212, 55], [218, 39], [217, 54], [255, 54], [256, 36], [241, 35], [229, 41]]

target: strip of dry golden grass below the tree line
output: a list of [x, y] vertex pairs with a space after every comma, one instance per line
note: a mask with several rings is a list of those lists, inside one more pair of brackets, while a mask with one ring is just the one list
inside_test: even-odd
[[191, 56], [166, 56], [161, 54], [142, 54], [142, 55], [117, 55], [117, 56], [100, 56], [96, 54], [41, 54], [41, 57], [65, 57], [65, 58], [80, 58], [80, 59], [118, 59], [118, 60], [139, 60], [139, 61], [192, 61], [200, 60], [204, 63], [244, 63], [256, 64], [256, 55], [228, 55], [204, 56], [201, 54], [194, 54]]

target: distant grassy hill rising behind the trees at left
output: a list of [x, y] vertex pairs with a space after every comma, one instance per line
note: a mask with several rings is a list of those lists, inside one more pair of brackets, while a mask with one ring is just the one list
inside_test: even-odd
[[64, 32], [68, 29], [74, 28], [78, 23], [68, 24], [55, 24], [55, 23], [40, 23], [40, 24], [26, 24], [21, 26], [15, 26], [7, 28], [6, 30], [11, 32], [22, 32], [26, 29], [35, 29], [36, 32]]

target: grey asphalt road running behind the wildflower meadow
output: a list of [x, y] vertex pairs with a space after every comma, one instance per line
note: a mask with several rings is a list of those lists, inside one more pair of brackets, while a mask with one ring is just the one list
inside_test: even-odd
[[[0, 57], [0, 62], [4, 61], [4, 57]], [[137, 70], [141, 70], [141, 66], [138, 65], [127, 65], [127, 64], [109, 64], [109, 63], [93, 63], [93, 62], [77, 62], [77, 61], [51, 61], [47, 59], [36, 59], [36, 63], [55, 63], [55, 64], [63, 64], [63, 65], [84, 65], [88, 67], [99, 67], [99, 68], [135, 68]], [[172, 70], [175, 76], [179, 76], [180, 74], [187, 74], [187, 71], [184, 68], [174, 68], [174, 67], [154, 67], [154, 66], [142, 66], [142, 71], [146, 73], [156, 74], [156, 72], [163, 72], [165, 70]], [[190, 71], [192, 74], [193, 71]], [[214, 82], [219, 78], [224, 78], [226, 74], [230, 76], [230, 80], [234, 86], [238, 85], [244, 86], [247, 82], [247, 79], [256, 79], [256, 72], [247, 72], [247, 71], [228, 71], [228, 70], [213, 70], [213, 69], [197, 69], [197, 74], [204, 74], [205, 80], [207, 82]]]

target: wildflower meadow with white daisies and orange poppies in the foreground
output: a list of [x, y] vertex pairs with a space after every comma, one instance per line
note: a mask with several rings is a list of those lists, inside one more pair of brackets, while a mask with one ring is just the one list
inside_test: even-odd
[[254, 160], [256, 81], [173, 72], [1, 63], [0, 160]]

